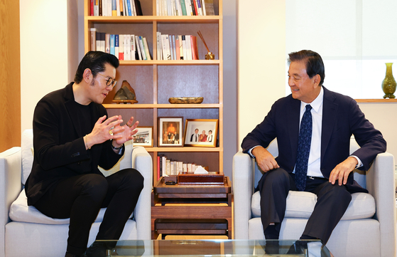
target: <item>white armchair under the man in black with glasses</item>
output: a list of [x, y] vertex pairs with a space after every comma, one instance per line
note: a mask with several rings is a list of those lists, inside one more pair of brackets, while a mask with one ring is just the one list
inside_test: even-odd
[[[21, 147], [0, 153], [0, 257], [57, 257], [65, 256], [69, 219], [52, 219], [27, 205], [23, 185], [33, 164], [33, 131], [25, 130]], [[151, 190], [153, 163], [143, 147], [126, 143], [124, 156], [105, 176], [119, 169], [134, 167], [144, 177], [144, 187], [139, 196], [132, 219], [127, 221], [121, 239], [151, 238]], [[101, 209], [89, 233], [89, 244], [95, 240], [103, 219]]]

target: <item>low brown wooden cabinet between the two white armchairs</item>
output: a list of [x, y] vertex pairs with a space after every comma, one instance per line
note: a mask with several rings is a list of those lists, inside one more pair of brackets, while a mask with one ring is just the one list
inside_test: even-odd
[[232, 185], [166, 185], [161, 178], [151, 200], [152, 239], [165, 235], [224, 235], [232, 238]]

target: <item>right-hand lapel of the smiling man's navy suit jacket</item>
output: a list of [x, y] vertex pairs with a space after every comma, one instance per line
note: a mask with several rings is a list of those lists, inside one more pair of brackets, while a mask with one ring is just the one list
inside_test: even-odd
[[321, 128], [321, 162], [325, 156], [328, 143], [337, 119], [338, 105], [335, 102], [335, 95], [324, 88], [324, 100], [322, 100], [322, 128]]

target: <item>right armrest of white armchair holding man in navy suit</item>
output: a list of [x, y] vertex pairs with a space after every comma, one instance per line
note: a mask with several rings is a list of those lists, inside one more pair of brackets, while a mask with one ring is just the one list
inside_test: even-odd
[[366, 174], [366, 189], [375, 199], [374, 218], [380, 224], [381, 256], [396, 256], [396, 181], [392, 154], [378, 154]]

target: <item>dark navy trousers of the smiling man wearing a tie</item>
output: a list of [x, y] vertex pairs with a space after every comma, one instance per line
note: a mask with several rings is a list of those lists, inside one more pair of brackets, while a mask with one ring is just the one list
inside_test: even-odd
[[[284, 169], [274, 169], [263, 174], [258, 184], [261, 192], [261, 221], [263, 231], [269, 224], [275, 223], [278, 233], [285, 215], [288, 192], [297, 191], [294, 174], [288, 174]], [[305, 192], [317, 194], [317, 203], [306, 224], [303, 235], [320, 238], [327, 243], [332, 230], [352, 200], [352, 195], [344, 185], [337, 182], [331, 184], [328, 179], [308, 177]]]

